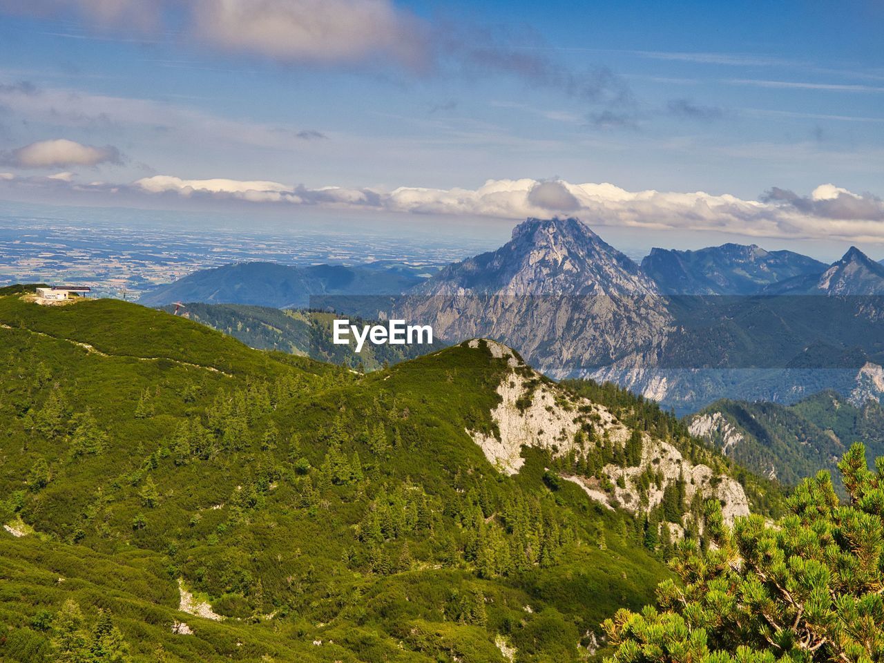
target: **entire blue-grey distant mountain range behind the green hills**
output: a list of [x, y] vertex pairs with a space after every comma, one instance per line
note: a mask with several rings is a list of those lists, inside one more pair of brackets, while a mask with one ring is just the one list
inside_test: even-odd
[[[498, 339], [546, 375], [610, 380], [682, 413], [720, 398], [884, 393], [884, 267], [856, 248], [829, 267], [735, 244], [655, 249], [640, 266], [579, 219], [530, 218], [495, 251], [430, 278], [419, 269], [249, 263], [142, 301], [287, 308], [316, 295], [315, 307], [349, 316], [431, 324], [447, 343]], [[380, 293], [390, 296], [370, 296]]]

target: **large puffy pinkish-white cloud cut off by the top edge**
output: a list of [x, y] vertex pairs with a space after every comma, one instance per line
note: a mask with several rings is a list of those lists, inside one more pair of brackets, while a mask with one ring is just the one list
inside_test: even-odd
[[423, 24], [389, 0], [196, 0], [192, 19], [208, 42], [285, 61], [420, 67], [428, 56]]

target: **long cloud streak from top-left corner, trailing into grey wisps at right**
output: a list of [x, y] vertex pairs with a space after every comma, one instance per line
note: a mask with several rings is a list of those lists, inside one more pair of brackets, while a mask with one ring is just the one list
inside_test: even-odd
[[[79, 16], [101, 28], [57, 31], [62, 38], [149, 42], [166, 31], [179, 40], [286, 66], [372, 75], [398, 70], [397, 76], [412, 77], [503, 76], [584, 106], [624, 112], [635, 104], [626, 80], [604, 66], [575, 68], [550, 50], [523, 49], [524, 35], [505, 27], [424, 19], [392, 0], [0, 0], [2, 11]], [[538, 34], [528, 38], [543, 44]], [[216, 69], [176, 61], [164, 66]]]

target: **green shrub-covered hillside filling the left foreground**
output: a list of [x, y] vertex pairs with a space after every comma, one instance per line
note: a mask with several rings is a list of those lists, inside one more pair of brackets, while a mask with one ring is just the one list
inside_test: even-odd
[[360, 376], [0, 291], [0, 659], [591, 656], [666, 551], [549, 452], [492, 467], [467, 430], [510, 372], [479, 343]]

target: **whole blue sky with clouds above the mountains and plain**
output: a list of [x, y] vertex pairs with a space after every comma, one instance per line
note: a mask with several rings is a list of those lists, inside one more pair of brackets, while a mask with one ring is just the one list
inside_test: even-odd
[[881, 0], [0, 0], [0, 199], [884, 254], [881, 25]]

